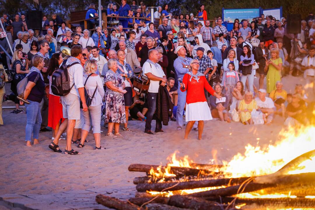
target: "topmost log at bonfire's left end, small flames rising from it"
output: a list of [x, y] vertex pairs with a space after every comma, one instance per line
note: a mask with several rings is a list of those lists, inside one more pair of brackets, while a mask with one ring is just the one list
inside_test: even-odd
[[[157, 166], [157, 165], [144, 165], [144, 164], [131, 164], [128, 167], [129, 171], [137, 171], [137, 172], [146, 172], [150, 173], [151, 168], [153, 168], [154, 171], [157, 171], [157, 168], [161, 168], [165, 170], [165, 166]], [[196, 169], [196, 168], [186, 168], [186, 167], [170, 167], [170, 172], [175, 174], [177, 177], [183, 177], [183, 176], [198, 176], [200, 174], [202, 175], [208, 175], [208, 176], [214, 176], [217, 174], [221, 174], [219, 172], [214, 172], [206, 169]]]

